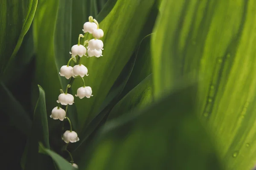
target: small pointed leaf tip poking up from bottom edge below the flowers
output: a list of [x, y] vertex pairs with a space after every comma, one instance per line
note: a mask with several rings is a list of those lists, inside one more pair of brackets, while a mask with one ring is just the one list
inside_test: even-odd
[[76, 168], [73, 167], [67, 160], [62, 158], [57, 153], [53, 152], [52, 150], [49, 150], [48, 148], [44, 147], [44, 145], [40, 142], [39, 143], [39, 150], [41, 153], [45, 153], [52, 157], [52, 159], [57, 164], [59, 170], [75, 170]]

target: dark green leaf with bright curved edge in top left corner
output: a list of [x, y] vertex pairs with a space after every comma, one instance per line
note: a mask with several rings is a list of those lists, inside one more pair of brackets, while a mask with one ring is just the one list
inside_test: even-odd
[[1, 0], [0, 2], [0, 77], [15, 60], [17, 51], [32, 23], [38, 0]]

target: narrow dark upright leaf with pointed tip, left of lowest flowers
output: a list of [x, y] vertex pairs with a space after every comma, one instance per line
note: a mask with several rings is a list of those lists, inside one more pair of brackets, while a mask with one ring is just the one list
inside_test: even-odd
[[42, 169], [41, 164], [39, 164], [38, 162], [44, 164], [44, 161], [47, 161], [43, 160], [43, 157], [41, 157], [41, 155], [38, 153], [38, 142], [42, 142], [47, 148], [50, 147], [48, 121], [45, 105], [45, 93], [44, 89], [40, 85], [38, 85], [38, 88], [39, 98], [35, 107], [31, 134], [27, 142], [28, 150], [26, 155], [25, 170], [35, 170], [38, 168]]

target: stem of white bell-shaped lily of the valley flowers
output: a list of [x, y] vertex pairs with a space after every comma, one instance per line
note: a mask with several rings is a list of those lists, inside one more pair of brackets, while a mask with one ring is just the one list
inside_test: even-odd
[[[84, 56], [87, 57], [101, 57], [102, 50], [103, 50], [103, 42], [99, 40], [104, 36], [104, 32], [102, 29], [99, 29], [99, 23], [97, 20], [93, 19], [92, 16], [89, 17], [89, 22], [84, 23], [84, 33], [92, 34], [94, 39], [92, 40], [85, 40], [83, 45], [80, 44], [81, 37], [84, 37], [83, 34], [79, 34], [78, 43], [73, 45], [70, 51], [71, 58], [67, 62], [67, 65], [63, 65], [60, 69], [60, 76], [65, 77], [66, 79], [75, 79], [81, 78], [83, 81], [83, 86], [77, 89], [76, 95], [80, 99], [84, 97], [90, 98], [92, 95], [92, 88], [90, 86], [85, 86], [84, 76], [88, 76], [88, 69], [81, 64], [81, 58]], [[87, 45], [87, 48], [85, 47]], [[86, 55], [87, 54], [87, 55]], [[74, 67], [70, 66], [70, 62], [73, 61], [78, 63]], [[73, 82], [73, 81], [70, 81]], [[50, 117], [54, 120], [59, 119], [63, 121], [67, 119], [70, 124], [70, 130], [66, 130], [62, 135], [62, 140], [65, 143], [74, 143], [79, 141], [79, 137], [75, 131], [72, 130], [72, 124], [70, 119], [67, 117], [67, 107], [68, 105], [73, 105], [74, 103], [74, 96], [72, 94], [68, 94], [68, 89], [71, 87], [71, 83], [67, 85], [66, 91], [64, 92], [60, 89], [61, 94], [58, 96], [58, 106], [52, 109], [52, 114]], [[66, 106], [64, 110], [61, 108], [62, 106]], [[71, 164], [73, 167], [78, 168], [77, 164], [74, 164], [73, 158], [71, 153], [66, 149], [66, 151], [70, 154]]]

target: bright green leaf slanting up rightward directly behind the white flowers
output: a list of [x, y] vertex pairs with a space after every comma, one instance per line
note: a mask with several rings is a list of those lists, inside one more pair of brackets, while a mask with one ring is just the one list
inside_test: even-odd
[[[140, 31], [142, 31], [153, 4], [154, 0], [140, 3], [119, 0], [108, 16], [99, 24], [105, 32], [103, 57], [82, 59], [82, 64], [89, 71], [86, 85], [93, 89], [94, 96], [90, 99], [76, 100], [81, 125], [84, 122], [90, 122], [96, 116], [99, 106], [128, 62], [135, 46], [139, 43], [137, 41]], [[134, 19], [137, 16], [140, 17]], [[131, 29], [133, 27], [136, 29]], [[81, 83], [75, 81], [73, 91], [79, 87], [81, 87]]]

